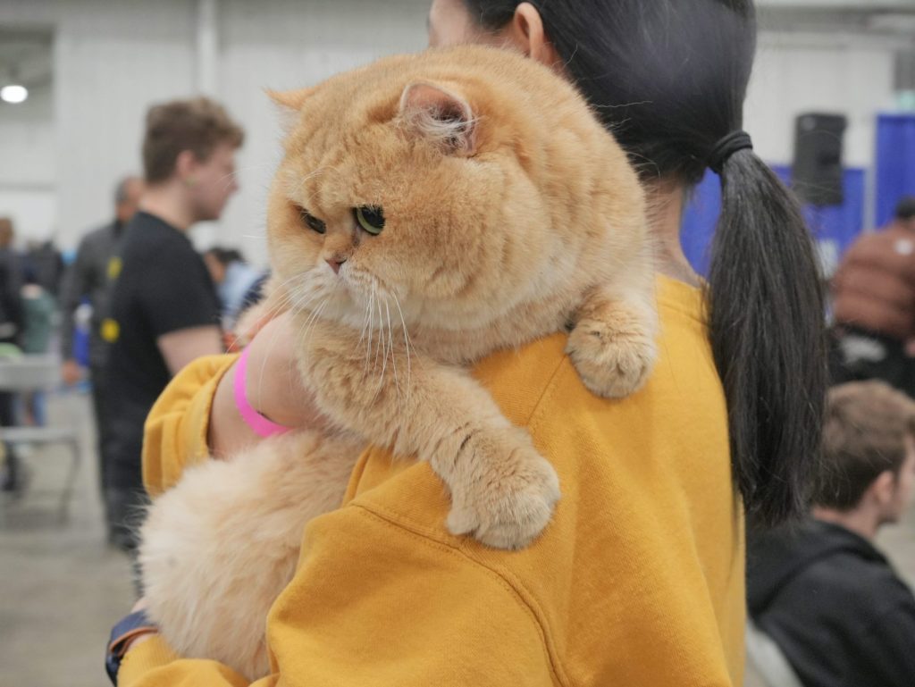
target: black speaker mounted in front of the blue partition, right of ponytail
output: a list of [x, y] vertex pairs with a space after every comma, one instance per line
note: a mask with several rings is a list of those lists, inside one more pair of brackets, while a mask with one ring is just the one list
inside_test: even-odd
[[791, 184], [806, 203], [842, 205], [842, 141], [848, 120], [842, 114], [806, 113], [794, 120]]

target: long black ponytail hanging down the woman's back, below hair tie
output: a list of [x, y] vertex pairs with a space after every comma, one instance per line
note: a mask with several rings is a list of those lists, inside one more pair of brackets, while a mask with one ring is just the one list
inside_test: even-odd
[[797, 202], [750, 150], [721, 169], [706, 286], [734, 477], [756, 524], [802, 512], [826, 388], [823, 290]]

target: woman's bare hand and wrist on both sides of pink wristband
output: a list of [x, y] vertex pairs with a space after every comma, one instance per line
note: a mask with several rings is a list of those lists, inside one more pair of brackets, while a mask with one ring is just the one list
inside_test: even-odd
[[[270, 320], [248, 345], [245, 390], [248, 403], [274, 423], [293, 428], [320, 428], [314, 396], [302, 386], [296, 369], [295, 331], [288, 313]], [[237, 365], [222, 377], [210, 410], [210, 452], [231, 456], [261, 440], [242, 420], [232, 385]]]

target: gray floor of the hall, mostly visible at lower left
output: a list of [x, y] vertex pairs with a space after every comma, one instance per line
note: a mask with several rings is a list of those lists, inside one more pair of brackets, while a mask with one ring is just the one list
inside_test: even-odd
[[[84, 460], [66, 522], [57, 516], [70, 458], [58, 446], [35, 447], [26, 495], [0, 502], [0, 684], [103, 687], [108, 631], [134, 601], [130, 568], [104, 542], [88, 398], [66, 393], [48, 406], [54, 423], [80, 428]], [[915, 508], [879, 545], [915, 584]], [[746, 685], [762, 685], [752, 669]]]

